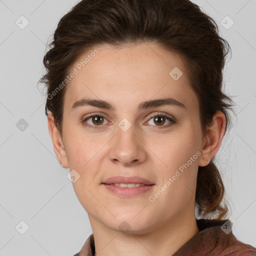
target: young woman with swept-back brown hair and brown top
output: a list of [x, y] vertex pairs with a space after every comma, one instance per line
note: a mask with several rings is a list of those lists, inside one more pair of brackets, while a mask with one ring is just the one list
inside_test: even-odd
[[82, 0], [60, 19], [40, 81], [93, 231], [76, 256], [256, 255], [232, 233], [214, 164], [228, 50], [189, 0]]

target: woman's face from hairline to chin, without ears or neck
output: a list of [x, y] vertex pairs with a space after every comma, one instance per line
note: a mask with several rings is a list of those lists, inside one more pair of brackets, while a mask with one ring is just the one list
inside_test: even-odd
[[[91, 223], [143, 233], [194, 215], [203, 137], [182, 59], [154, 43], [97, 50], [70, 68], [78, 72], [66, 85], [61, 159]], [[107, 183], [115, 176], [150, 185]]]

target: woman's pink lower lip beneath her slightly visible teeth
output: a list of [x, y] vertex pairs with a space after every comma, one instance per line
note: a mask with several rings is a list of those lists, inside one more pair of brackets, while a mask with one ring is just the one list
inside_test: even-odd
[[133, 197], [139, 194], [147, 193], [153, 187], [153, 185], [143, 185], [143, 186], [136, 186], [136, 187], [120, 187], [114, 184], [103, 184], [103, 185], [110, 192], [121, 197]]

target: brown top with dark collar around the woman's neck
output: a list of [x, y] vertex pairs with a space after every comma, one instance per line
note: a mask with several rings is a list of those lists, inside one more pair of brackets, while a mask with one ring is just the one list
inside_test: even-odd
[[[256, 248], [242, 243], [233, 235], [228, 219], [196, 219], [199, 232], [191, 237], [172, 256], [256, 256]], [[80, 252], [74, 256], [94, 256], [94, 238], [91, 234]], [[100, 256], [100, 255], [99, 255]]]

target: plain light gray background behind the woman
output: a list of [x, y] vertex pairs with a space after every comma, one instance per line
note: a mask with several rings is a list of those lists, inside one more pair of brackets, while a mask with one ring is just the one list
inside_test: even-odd
[[[225, 92], [235, 95], [237, 120], [233, 119], [215, 158], [230, 201], [233, 233], [256, 246], [256, 1], [194, 2], [216, 20], [232, 49], [224, 78]], [[39, 90], [42, 86], [36, 86], [43, 72], [45, 44], [75, 3], [0, 0], [1, 256], [72, 256], [92, 233], [66, 176], [69, 169], [61, 168], [54, 154], [45, 96]], [[15, 23], [21, 23], [21, 15], [29, 21], [23, 29]], [[231, 27], [227, 15], [234, 21]], [[20, 232], [25, 224], [20, 221], [29, 226], [24, 234]]]

